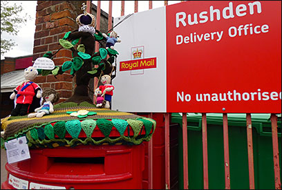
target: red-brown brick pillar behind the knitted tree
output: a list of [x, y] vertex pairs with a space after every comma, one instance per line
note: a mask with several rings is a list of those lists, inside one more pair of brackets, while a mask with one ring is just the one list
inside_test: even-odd
[[[48, 51], [55, 53], [62, 47], [59, 45], [59, 39], [62, 39], [66, 32], [78, 28], [75, 19], [83, 13], [82, 3], [86, 1], [37, 1], [33, 60], [43, 57]], [[56, 66], [62, 66], [64, 61], [71, 59], [71, 50], [62, 48], [53, 61]], [[64, 102], [73, 95], [75, 88], [75, 80], [69, 73], [70, 70], [63, 75], [57, 75], [57, 79], [53, 75], [39, 75], [35, 82], [42, 88], [54, 88], [61, 97], [59, 102]]]

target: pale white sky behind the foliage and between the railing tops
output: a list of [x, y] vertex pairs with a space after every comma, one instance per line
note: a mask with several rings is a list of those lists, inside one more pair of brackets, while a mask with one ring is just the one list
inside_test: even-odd
[[[180, 3], [180, 1], [168, 1], [169, 5], [174, 3]], [[3, 38], [13, 39], [17, 46], [14, 46], [12, 50], [8, 51], [4, 55], [1, 55], [1, 59], [5, 57], [20, 57], [25, 55], [32, 55], [33, 41], [35, 35], [35, 15], [37, 1], [9, 1], [9, 5], [21, 4], [23, 11], [21, 15], [26, 13], [30, 15], [30, 19], [26, 24], [22, 24], [19, 28], [17, 36], [8, 35], [3, 32]], [[92, 1], [97, 6], [97, 1]], [[124, 15], [129, 15], [134, 12], [134, 1], [125, 1]], [[159, 8], [164, 6], [164, 1], [153, 1], [153, 8]], [[101, 9], [105, 12], [109, 12], [109, 1], [101, 1]], [[121, 1], [113, 1], [113, 17], [120, 17]], [[149, 1], [138, 1], [138, 12], [149, 10]]]

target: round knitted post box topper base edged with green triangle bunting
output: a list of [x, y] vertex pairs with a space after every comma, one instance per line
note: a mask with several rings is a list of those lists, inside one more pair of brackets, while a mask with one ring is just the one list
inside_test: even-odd
[[[79, 113], [82, 109], [97, 114], [77, 118], [66, 113]], [[1, 124], [6, 131], [1, 138], [3, 149], [3, 142], [22, 136], [26, 136], [30, 149], [79, 144], [141, 144], [151, 140], [156, 129], [156, 121], [150, 118], [97, 108], [88, 102], [62, 102], [54, 106], [52, 115], [8, 117]]]

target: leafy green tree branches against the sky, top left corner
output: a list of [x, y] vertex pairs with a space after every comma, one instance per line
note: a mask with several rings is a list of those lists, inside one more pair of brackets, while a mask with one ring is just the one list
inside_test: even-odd
[[17, 35], [18, 28], [30, 18], [28, 15], [22, 15], [22, 10], [21, 4], [15, 3], [9, 6], [8, 1], [1, 1], [1, 55], [8, 52], [12, 46], [17, 45], [12, 39], [3, 39], [2, 32]]

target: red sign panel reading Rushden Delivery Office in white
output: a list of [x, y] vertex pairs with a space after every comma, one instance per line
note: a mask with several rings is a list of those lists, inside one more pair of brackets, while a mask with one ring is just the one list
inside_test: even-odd
[[167, 112], [281, 113], [281, 1], [166, 11]]

